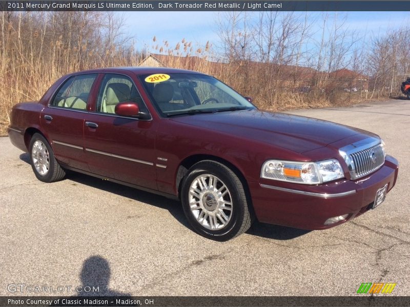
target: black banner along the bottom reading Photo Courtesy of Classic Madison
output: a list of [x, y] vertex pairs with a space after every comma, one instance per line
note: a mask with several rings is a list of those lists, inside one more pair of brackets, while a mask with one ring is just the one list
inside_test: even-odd
[[403, 296], [2, 296], [0, 306], [409, 306]]

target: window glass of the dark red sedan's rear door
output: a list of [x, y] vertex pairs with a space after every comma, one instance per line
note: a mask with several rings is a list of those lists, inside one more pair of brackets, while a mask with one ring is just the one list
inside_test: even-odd
[[51, 105], [81, 110], [87, 109], [88, 96], [96, 77], [96, 74], [70, 77], [61, 85]]

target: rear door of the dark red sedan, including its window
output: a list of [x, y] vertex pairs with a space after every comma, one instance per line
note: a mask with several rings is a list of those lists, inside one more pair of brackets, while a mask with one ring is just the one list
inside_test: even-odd
[[82, 74], [68, 78], [43, 109], [40, 119], [57, 160], [84, 170], [88, 170], [84, 122], [96, 77], [97, 74]]

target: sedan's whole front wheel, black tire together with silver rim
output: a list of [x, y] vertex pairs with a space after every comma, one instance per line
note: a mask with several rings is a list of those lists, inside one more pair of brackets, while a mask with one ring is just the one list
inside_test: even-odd
[[[206, 188], [201, 189], [200, 193], [191, 192], [195, 190], [192, 187], [200, 184], [198, 178], [204, 178], [206, 183], [204, 186], [208, 185], [210, 189], [213, 186], [210, 181], [215, 183], [215, 187], [212, 187], [214, 196]], [[228, 190], [227, 193], [224, 193], [225, 188]], [[219, 189], [221, 192], [218, 193]], [[202, 195], [202, 197], [195, 195]], [[193, 204], [192, 210], [190, 201]], [[252, 205], [242, 182], [229, 167], [215, 161], [201, 161], [188, 170], [187, 176], [182, 181], [181, 202], [183, 211], [194, 230], [212, 240], [227, 241], [247, 231], [252, 225]], [[201, 214], [205, 216], [208, 214], [208, 216], [201, 220]]]

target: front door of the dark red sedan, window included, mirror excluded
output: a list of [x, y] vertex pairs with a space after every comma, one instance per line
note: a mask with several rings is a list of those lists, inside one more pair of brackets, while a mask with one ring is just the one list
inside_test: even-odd
[[91, 172], [141, 187], [157, 189], [153, 121], [115, 114], [119, 102], [135, 102], [148, 109], [133, 80], [106, 74], [100, 82], [94, 112], [84, 123], [84, 146]]

